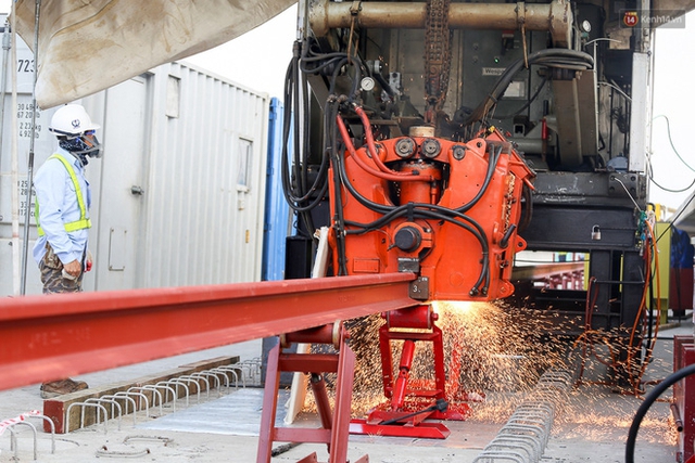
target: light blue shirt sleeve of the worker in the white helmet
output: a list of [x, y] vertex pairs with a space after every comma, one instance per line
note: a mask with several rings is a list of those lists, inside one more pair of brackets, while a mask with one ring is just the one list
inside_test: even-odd
[[[61, 262], [67, 263], [81, 258], [80, 249], [76, 249], [65, 231], [63, 217], [67, 194], [71, 194], [68, 182], [72, 179], [58, 159], [49, 159], [45, 168], [39, 169], [34, 180], [36, 198], [39, 202], [39, 224], [46, 239]], [[72, 192], [74, 196], [75, 193]]]

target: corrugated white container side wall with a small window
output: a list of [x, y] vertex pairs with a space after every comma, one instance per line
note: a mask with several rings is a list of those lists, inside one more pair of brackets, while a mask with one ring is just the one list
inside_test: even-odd
[[268, 98], [168, 66], [155, 82], [167, 91], [147, 166], [144, 286], [258, 281]]

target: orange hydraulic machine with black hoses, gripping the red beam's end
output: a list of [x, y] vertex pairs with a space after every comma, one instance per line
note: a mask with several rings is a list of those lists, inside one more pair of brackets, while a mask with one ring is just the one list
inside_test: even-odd
[[339, 176], [329, 175], [338, 273], [412, 271], [420, 300], [511, 295], [514, 255], [526, 247], [521, 200], [534, 176], [511, 144], [494, 129], [463, 143], [431, 127], [375, 140], [364, 110], [354, 111], [362, 146], [339, 115], [346, 150], [333, 159]]

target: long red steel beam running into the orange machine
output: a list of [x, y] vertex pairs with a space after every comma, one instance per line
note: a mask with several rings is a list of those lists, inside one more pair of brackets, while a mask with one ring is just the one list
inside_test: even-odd
[[8, 298], [0, 390], [415, 306], [414, 273]]

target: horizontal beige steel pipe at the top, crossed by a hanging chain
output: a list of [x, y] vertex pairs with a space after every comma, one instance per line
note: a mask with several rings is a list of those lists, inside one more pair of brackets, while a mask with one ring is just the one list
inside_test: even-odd
[[[356, 3], [358, 5], [356, 7]], [[323, 0], [312, 7], [309, 25], [317, 36], [330, 29], [350, 28], [425, 28], [425, 2], [332, 2]], [[354, 21], [354, 23], [353, 23]], [[553, 42], [567, 47], [571, 37], [572, 12], [565, 0], [538, 3], [451, 3], [448, 27], [452, 29], [547, 30]]]

